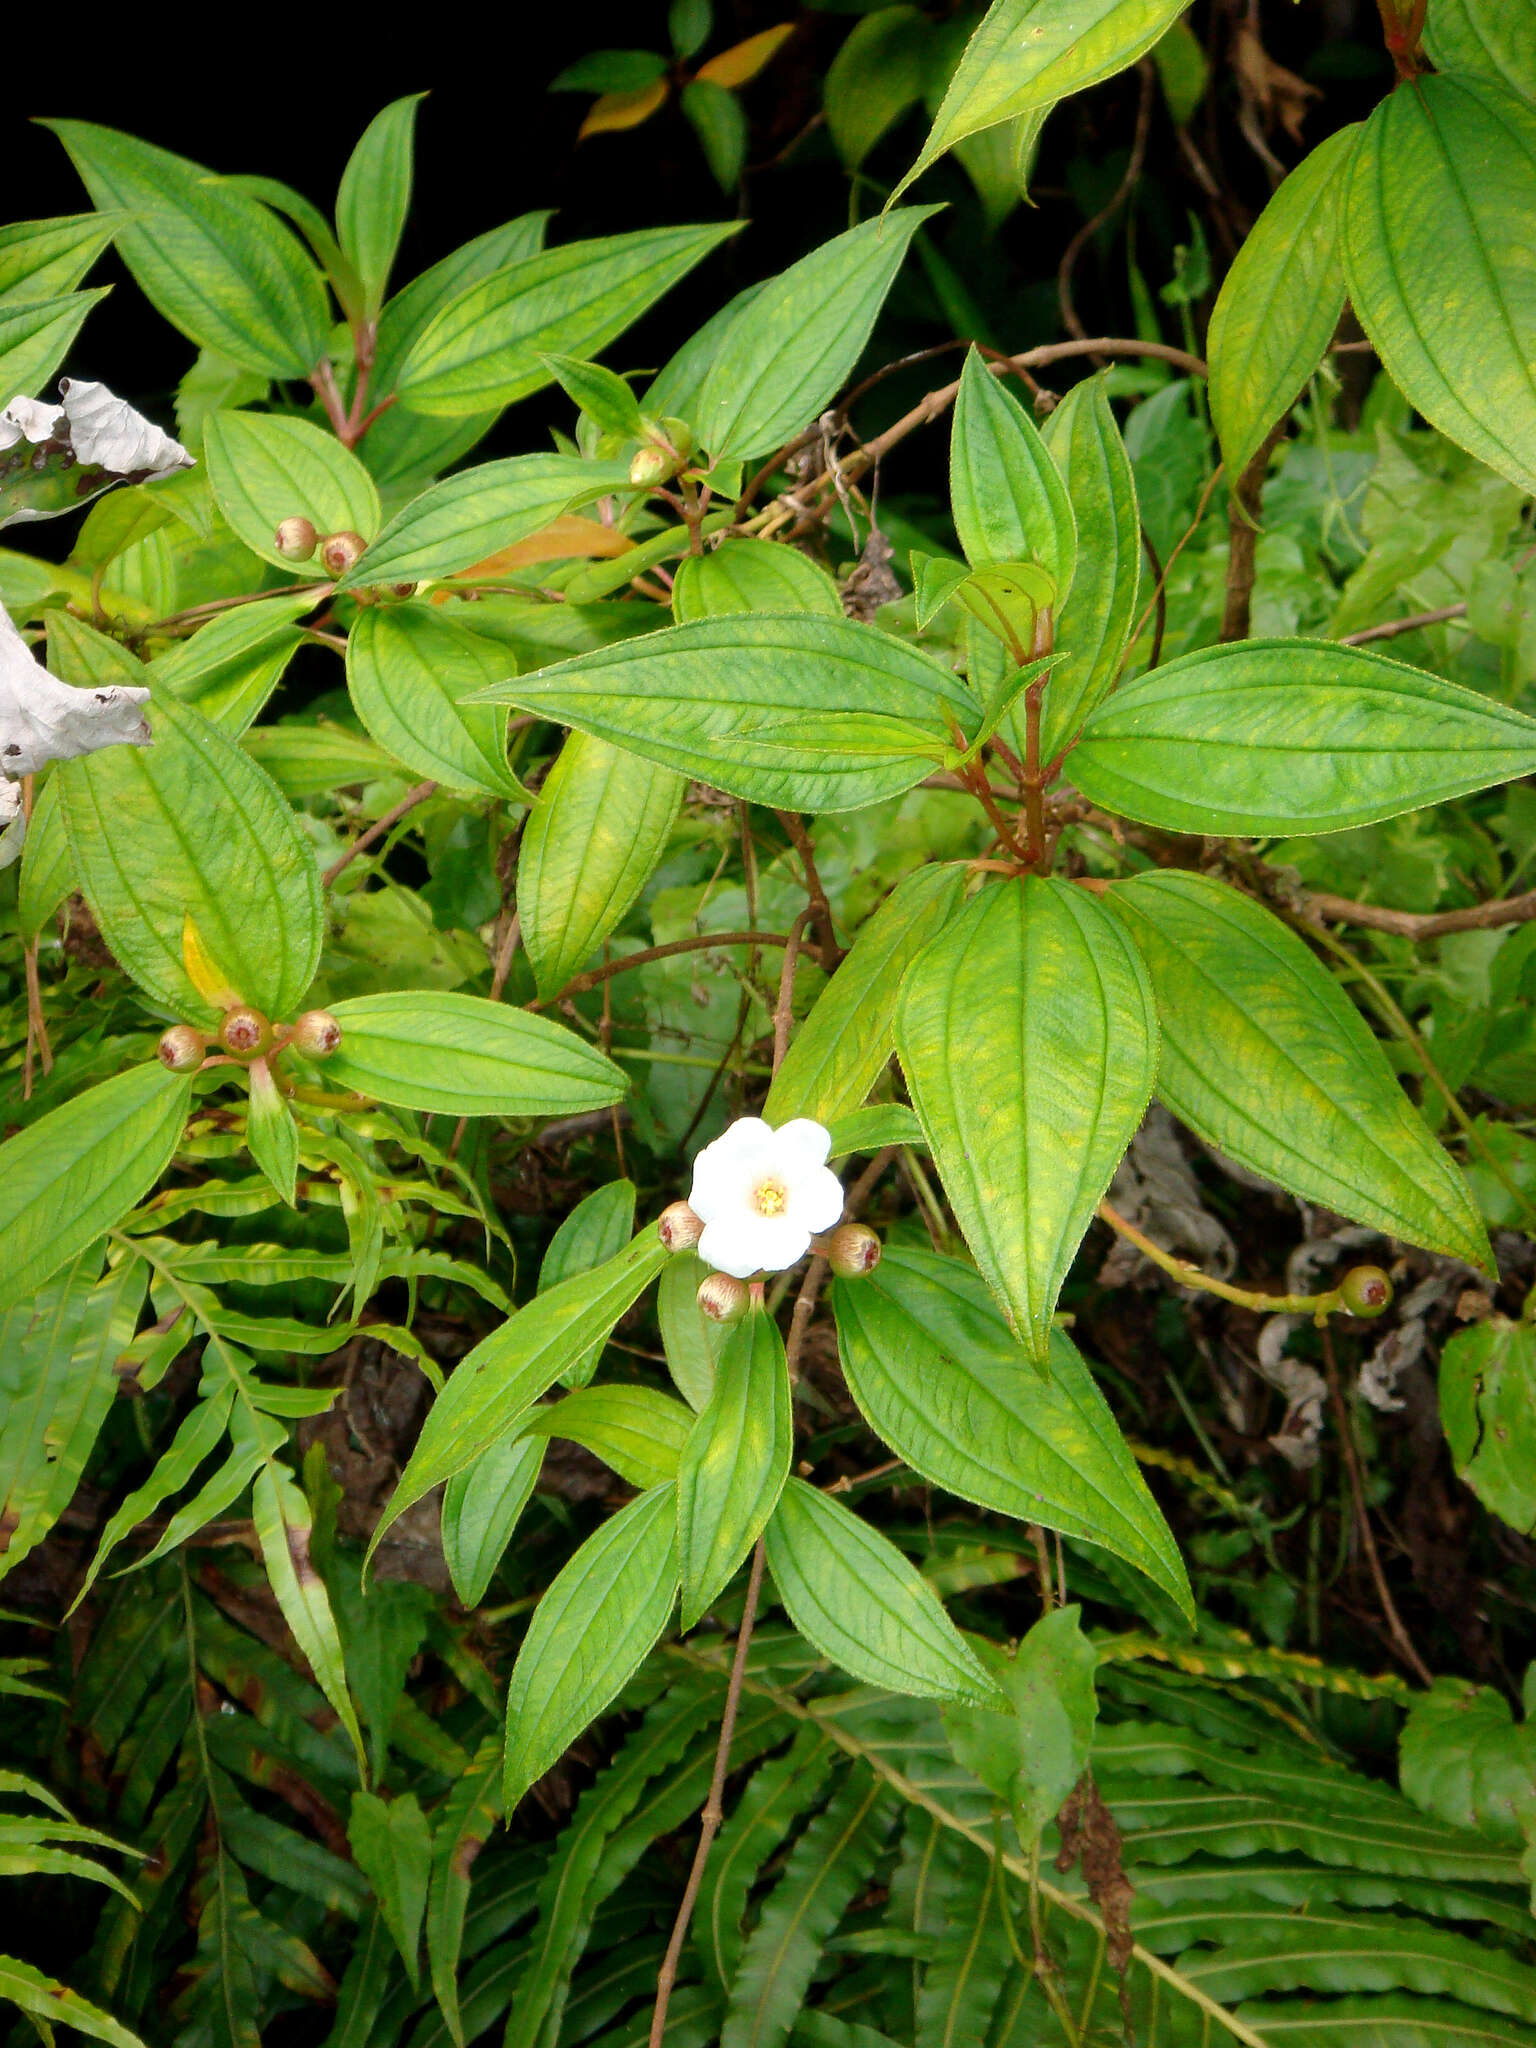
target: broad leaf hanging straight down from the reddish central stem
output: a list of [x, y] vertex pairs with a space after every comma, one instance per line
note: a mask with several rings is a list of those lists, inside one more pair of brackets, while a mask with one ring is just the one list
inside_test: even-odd
[[895, 1038], [967, 1243], [1044, 1368], [1057, 1294], [1151, 1098], [1147, 973], [1087, 891], [1004, 883], [911, 965]]

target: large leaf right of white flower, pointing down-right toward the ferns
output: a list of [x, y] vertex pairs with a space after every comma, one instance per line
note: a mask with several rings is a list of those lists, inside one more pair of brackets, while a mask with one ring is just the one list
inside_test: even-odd
[[848, 1391], [903, 1464], [963, 1501], [1100, 1544], [1194, 1612], [1178, 1544], [1061, 1331], [1042, 1382], [981, 1276], [905, 1245], [887, 1245], [868, 1278], [834, 1282], [831, 1300]]

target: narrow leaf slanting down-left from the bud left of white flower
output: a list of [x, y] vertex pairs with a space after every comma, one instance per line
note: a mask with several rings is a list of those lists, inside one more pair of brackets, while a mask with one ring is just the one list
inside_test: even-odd
[[666, 1260], [655, 1229], [645, 1229], [616, 1257], [537, 1294], [477, 1343], [432, 1403], [369, 1554], [414, 1501], [508, 1436], [565, 1366], [608, 1335]]

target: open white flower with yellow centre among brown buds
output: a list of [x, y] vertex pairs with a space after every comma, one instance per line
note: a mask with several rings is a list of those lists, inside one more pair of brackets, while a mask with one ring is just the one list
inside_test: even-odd
[[842, 1217], [829, 1149], [827, 1130], [809, 1116], [778, 1130], [762, 1116], [737, 1116], [694, 1159], [688, 1202], [705, 1223], [698, 1257], [737, 1280], [803, 1260], [813, 1233], [834, 1229]]

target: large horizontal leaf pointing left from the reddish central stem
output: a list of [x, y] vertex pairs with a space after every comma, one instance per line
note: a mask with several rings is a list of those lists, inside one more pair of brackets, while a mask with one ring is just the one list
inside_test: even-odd
[[512, 676], [485, 700], [786, 811], [897, 797], [946, 758], [950, 725], [975, 717], [930, 655], [811, 612], [698, 618]]

